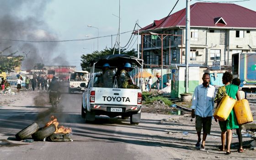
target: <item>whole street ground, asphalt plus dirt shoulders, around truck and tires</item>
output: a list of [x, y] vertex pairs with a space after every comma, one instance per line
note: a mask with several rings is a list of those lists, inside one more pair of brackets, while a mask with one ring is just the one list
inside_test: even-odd
[[[68, 94], [64, 87], [60, 106], [53, 108], [48, 92], [42, 90], [0, 95], [0, 160], [255, 160], [253, 150], [236, 152], [237, 138], [232, 139], [231, 155], [219, 151], [220, 129], [215, 122], [207, 136], [207, 150], [196, 149], [195, 122], [190, 116], [142, 112], [139, 125], [104, 116], [96, 117], [95, 123], [85, 123], [80, 116], [81, 96], [79, 92]], [[250, 102], [255, 113], [254, 99]], [[16, 133], [33, 122], [43, 127], [52, 115], [59, 125], [72, 128], [72, 142], [15, 139]], [[243, 141], [245, 147], [251, 138]]]

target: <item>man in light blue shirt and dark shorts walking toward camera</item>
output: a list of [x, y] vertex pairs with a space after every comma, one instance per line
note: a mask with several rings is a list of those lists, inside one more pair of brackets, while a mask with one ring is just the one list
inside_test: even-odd
[[[215, 87], [210, 85], [210, 75], [203, 74], [203, 84], [197, 85], [192, 97], [192, 113], [191, 117], [196, 117], [196, 130], [197, 130], [197, 144], [196, 147], [205, 150], [205, 140], [207, 134], [210, 134], [213, 106], [214, 106], [214, 92]], [[201, 131], [203, 128], [203, 141], [201, 144]]]

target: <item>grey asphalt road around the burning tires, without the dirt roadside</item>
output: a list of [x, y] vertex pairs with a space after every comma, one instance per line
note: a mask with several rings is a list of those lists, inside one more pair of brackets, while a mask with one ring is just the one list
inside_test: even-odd
[[[97, 117], [95, 123], [85, 123], [81, 118], [81, 96], [64, 91], [58, 108], [48, 103], [48, 93], [33, 91], [32, 96], [15, 105], [0, 108], [0, 160], [153, 160], [169, 159], [161, 153], [158, 142], [150, 134], [165, 132], [152, 127], [164, 117], [142, 115], [139, 125], [129, 119]], [[54, 115], [59, 125], [72, 128], [72, 142], [33, 143], [16, 141], [15, 134], [33, 122], [43, 127]], [[155, 132], [155, 133], [154, 133]], [[166, 145], [166, 144], [165, 144]]]

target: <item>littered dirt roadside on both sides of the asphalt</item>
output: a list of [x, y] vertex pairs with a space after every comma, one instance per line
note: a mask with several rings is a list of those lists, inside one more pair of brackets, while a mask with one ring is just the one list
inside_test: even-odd
[[[39, 91], [21, 91], [20, 93], [17, 93], [16, 95], [8, 95], [8, 94], [0, 94], [0, 109], [1, 106], [10, 106], [10, 107], [16, 107], [16, 106], [41, 106], [39, 102], [35, 101], [37, 100], [38, 95], [36, 93], [45, 92], [42, 90]], [[40, 99], [41, 103], [45, 103], [49, 105], [46, 99]], [[254, 102], [254, 101], [252, 101]], [[256, 103], [251, 103], [253, 107], [256, 107]], [[243, 159], [243, 160], [252, 160], [256, 157], [256, 151], [249, 149], [251, 138], [243, 138], [244, 141], [244, 153], [238, 153], [236, 152], [237, 149], [237, 138], [232, 139], [232, 153], [231, 155], [224, 155], [225, 152], [219, 151], [218, 147], [221, 144], [220, 142], [220, 129], [219, 124], [215, 123], [213, 121], [212, 123], [212, 130], [211, 134], [207, 137], [206, 142], [206, 149], [207, 150], [198, 150], [195, 148], [195, 143], [197, 140], [197, 134], [195, 131], [195, 120], [193, 119], [193, 122], [190, 121], [191, 117], [189, 115], [170, 115], [167, 116], [169, 118], [165, 118], [161, 120], [161, 117], [166, 117], [166, 115], [162, 115], [157, 112], [159, 108], [165, 108], [163, 110], [169, 112], [168, 106], [162, 106], [155, 104], [155, 107], [150, 107], [151, 114], [154, 115], [154, 119], [159, 119], [157, 123], [154, 124], [154, 126], [159, 126], [159, 128], [164, 128], [165, 133], [162, 133], [160, 135], [155, 135], [154, 133], [151, 133], [148, 131], [149, 139], [155, 139], [155, 141], [161, 141], [166, 142], [166, 145], [169, 147], [158, 147], [156, 150], [159, 149], [165, 149], [166, 152], [171, 152], [172, 155], [176, 155], [176, 157], [181, 157], [181, 159], [187, 159], [187, 160], [197, 160], [197, 159], [210, 159], [210, 160], [230, 160], [230, 159]], [[143, 107], [146, 108], [146, 107]], [[142, 109], [144, 112], [144, 109]], [[144, 116], [144, 115], [143, 115]], [[145, 115], [147, 116], [147, 115]], [[255, 117], [254, 117], [255, 118]], [[171, 149], [170, 149], [171, 146]]]

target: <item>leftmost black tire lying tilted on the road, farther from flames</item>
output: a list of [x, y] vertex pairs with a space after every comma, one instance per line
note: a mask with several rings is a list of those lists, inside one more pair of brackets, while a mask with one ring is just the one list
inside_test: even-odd
[[37, 123], [32, 123], [27, 126], [27, 128], [22, 129], [20, 132], [15, 134], [17, 140], [26, 139], [31, 134], [35, 133], [39, 129], [39, 125]]

